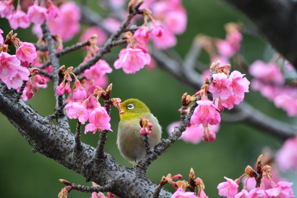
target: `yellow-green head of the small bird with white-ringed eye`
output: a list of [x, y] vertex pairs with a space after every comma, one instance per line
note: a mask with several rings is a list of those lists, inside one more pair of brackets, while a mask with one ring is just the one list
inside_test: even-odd
[[120, 114], [121, 121], [133, 120], [143, 116], [146, 113], [151, 113], [149, 108], [138, 99], [130, 98], [121, 103], [121, 108], [124, 114]]

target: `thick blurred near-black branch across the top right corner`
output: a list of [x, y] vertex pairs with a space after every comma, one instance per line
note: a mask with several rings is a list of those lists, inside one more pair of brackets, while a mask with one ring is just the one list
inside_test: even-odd
[[260, 33], [297, 68], [296, 1], [224, 0], [252, 20]]

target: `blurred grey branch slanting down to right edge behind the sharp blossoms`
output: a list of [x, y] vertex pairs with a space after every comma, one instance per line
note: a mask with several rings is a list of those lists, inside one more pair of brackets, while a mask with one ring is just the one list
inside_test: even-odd
[[[201, 88], [202, 83], [199, 80], [200, 78], [193, 77], [194, 75], [199, 76], [198, 73], [194, 70], [191, 70], [191, 72], [189, 72], [185, 69], [182, 69], [177, 61], [169, 58], [164, 53], [155, 48], [152, 50], [152, 56], [162, 69], [170, 73], [172, 76], [176, 77], [176, 79], [188, 85], [191, 85], [196, 90], [199, 90]], [[241, 102], [239, 105], [234, 105], [233, 110], [238, 114], [245, 115], [244, 119], [241, 121], [244, 121], [245, 123], [248, 123], [251, 126], [256, 127], [257, 129], [260, 129], [261, 131], [271, 134], [277, 138], [285, 140], [296, 135], [296, 126], [292, 126], [288, 123], [271, 118], [268, 115], [261, 113], [259, 110], [256, 110], [254, 107], [244, 101]], [[229, 120], [229, 122], [234, 121]]]

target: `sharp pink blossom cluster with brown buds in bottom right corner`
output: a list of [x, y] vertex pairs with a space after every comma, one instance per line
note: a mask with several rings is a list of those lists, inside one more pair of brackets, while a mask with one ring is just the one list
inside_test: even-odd
[[[259, 164], [259, 166], [257, 166], [257, 170], [260, 170], [260, 173], [258, 174], [262, 174], [260, 187], [247, 191], [247, 181], [249, 180], [249, 178], [257, 177], [257, 173], [252, 169], [252, 167], [247, 166], [245, 171], [246, 173], [241, 175], [241, 177], [236, 179], [235, 181], [227, 177], [224, 177], [227, 181], [222, 182], [217, 186], [217, 189], [219, 190], [219, 195], [228, 198], [294, 198], [294, 192], [291, 188], [293, 183], [286, 181], [280, 181], [277, 184], [274, 183], [274, 181], [272, 180], [272, 176], [270, 174], [271, 167], [268, 165], [261, 167], [261, 160], [262, 155], [259, 157], [257, 161], [257, 164]], [[238, 192], [238, 185], [240, 183], [241, 178], [244, 175], [247, 175], [247, 180], [245, 180], [243, 189], [240, 192]], [[269, 180], [271, 188], [265, 189], [264, 179]]]

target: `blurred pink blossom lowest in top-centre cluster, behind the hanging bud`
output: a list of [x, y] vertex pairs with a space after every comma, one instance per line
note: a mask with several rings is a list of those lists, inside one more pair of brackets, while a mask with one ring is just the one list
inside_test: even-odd
[[151, 37], [154, 46], [159, 50], [166, 50], [177, 44], [176, 36], [166, 26], [163, 25], [163, 27], [164, 31], [162, 37]]

